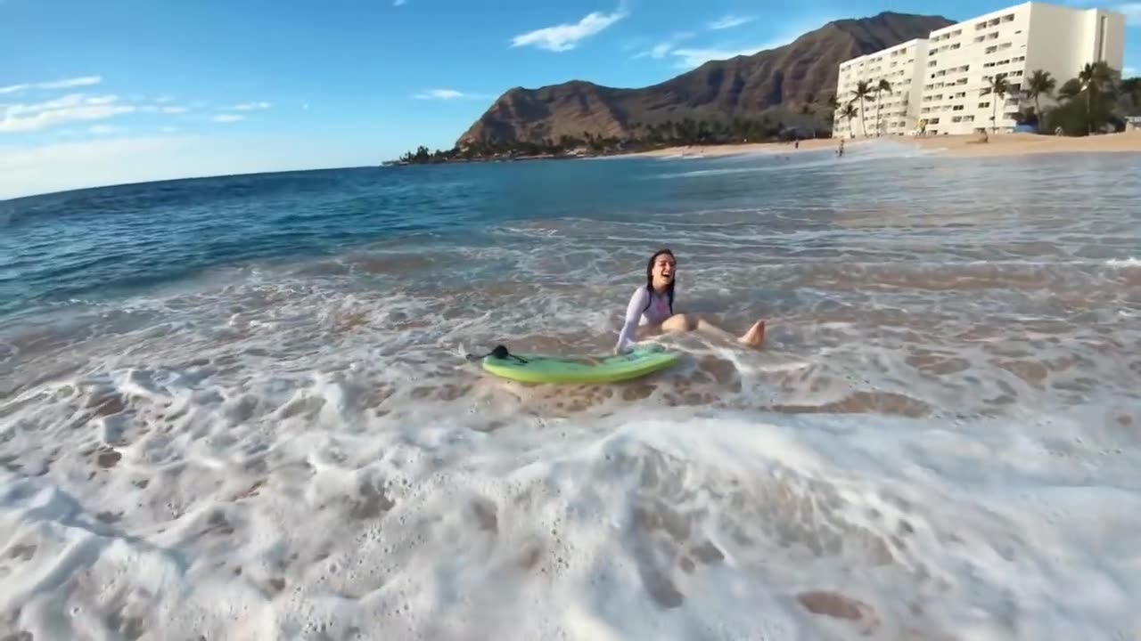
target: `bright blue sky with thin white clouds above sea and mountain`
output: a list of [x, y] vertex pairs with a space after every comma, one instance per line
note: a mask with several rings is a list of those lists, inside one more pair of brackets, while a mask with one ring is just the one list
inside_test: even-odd
[[[1010, 3], [0, 0], [0, 198], [377, 164], [451, 147], [511, 87], [640, 87], [840, 17]], [[1141, 2], [1099, 6], [1141, 67]]]

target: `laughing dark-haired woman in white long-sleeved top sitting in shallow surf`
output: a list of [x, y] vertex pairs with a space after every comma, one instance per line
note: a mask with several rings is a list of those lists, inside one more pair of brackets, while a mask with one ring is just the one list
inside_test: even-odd
[[662, 249], [649, 257], [646, 265], [646, 284], [634, 290], [626, 306], [626, 318], [618, 334], [615, 354], [628, 351], [634, 344], [634, 336], [642, 332], [688, 332], [697, 330], [706, 334], [736, 339], [758, 348], [764, 343], [764, 320], [758, 320], [742, 336], [734, 336], [709, 320], [691, 314], [673, 313], [673, 291], [677, 284], [678, 261], [673, 252]]

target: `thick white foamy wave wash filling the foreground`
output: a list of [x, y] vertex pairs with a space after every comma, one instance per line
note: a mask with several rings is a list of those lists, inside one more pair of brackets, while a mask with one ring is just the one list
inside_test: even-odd
[[343, 378], [285, 395], [116, 379], [136, 415], [169, 412], [119, 435], [118, 460], [52, 430], [51, 473], [0, 472], [0, 607], [35, 638], [1042, 639], [1141, 623], [1141, 487], [1106, 441], [645, 408], [551, 439], [523, 416], [492, 433], [423, 406], [414, 423], [347, 416]]

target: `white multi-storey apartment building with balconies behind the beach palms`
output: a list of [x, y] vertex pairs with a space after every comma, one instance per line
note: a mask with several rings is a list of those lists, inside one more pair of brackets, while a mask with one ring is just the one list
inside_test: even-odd
[[[932, 31], [922, 42], [925, 42], [925, 56], [923, 60], [916, 56], [915, 67], [909, 72], [912, 82], [906, 114], [901, 119], [897, 114], [896, 127], [884, 127], [881, 131], [924, 131], [928, 135], [972, 133], [992, 128], [1000, 132], [1011, 131], [1013, 116], [1025, 100], [1022, 82], [1034, 71], [1049, 72], [1060, 88], [1086, 63], [1104, 60], [1116, 70], [1122, 68], [1125, 16], [1104, 9], [1026, 2]], [[869, 65], [866, 59], [890, 50], [840, 65], [836, 96], [841, 107], [851, 99], [859, 80], [868, 80], [874, 89], [880, 65]], [[863, 65], [861, 60], [865, 60]], [[898, 78], [906, 76], [907, 72]], [[1005, 96], [989, 94], [993, 76], [1006, 78]], [[1000, 103], [995, 105], [995, 100]], [[1050, 99], [1039, 97], [1039, 103], [1047, 105]], [[840, 111], [836, 109], [833, 137], [849, 133], [847, 119]], [[997, 122], [993, 123], [992, 116]], [[874, 100], [865, 100], [865, 117], [868, 119], [868, 135], [873, 136]], [[900, 122], [905, 124], [899, 127]], [[852, 121], [852, 129], [857, 135], [863, 133], [858, 116]]]

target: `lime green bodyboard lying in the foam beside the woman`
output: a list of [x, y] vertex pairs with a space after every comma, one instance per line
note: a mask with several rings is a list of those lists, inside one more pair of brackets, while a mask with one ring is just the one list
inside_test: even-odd
[[542, 354], [518, 354], [521, 358], [484, 358], [484, 370], [523, 383], [615, 383], [653, 374], [674, 365], [681, 357], [657, 346], [636, 346], [626, 354], [573, 358]]

